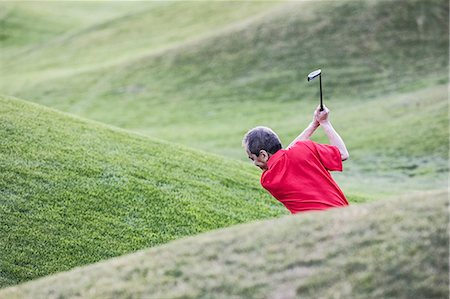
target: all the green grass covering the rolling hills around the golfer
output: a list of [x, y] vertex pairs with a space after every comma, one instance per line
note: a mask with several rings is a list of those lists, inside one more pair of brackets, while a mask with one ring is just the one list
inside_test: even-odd
[[[284, 144], [295, 138], [317, 105], [305, 76], [319, 67], [351, 154], [335, 177], [352, 203], [448, 185], [448, 1], [1, 2], [0, 11], [2, 93], [83, 117], [0, 96], [0, 287], [287, 214], [238, 161], [240, 142], [256, 125]], [[326, 141], [320, 130], [314, 139]], [[239, 226], [150, 249], [148, 262], [125, 257], [125, 272], [88, 268], [104, 280], [75, 270], [53, 288], [439, 297], [445, 195]], [[87, 281], [76, 271], [91, 286], [76, 284]], [[36, 292], [6, 292], [16, 291]]]

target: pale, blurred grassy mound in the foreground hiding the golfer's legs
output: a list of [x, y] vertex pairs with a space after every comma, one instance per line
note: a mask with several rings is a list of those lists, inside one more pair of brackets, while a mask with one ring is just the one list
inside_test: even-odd
[[239, 225], [7, 298], [448, 298], [448, 191]]

